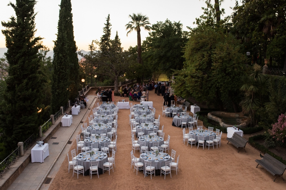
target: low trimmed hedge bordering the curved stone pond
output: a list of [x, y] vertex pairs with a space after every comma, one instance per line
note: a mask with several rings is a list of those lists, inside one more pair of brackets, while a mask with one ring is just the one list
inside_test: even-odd
[[[203, 125], [204, 126], [206, 126], [206, 127], [207, 126], [208, 127], [213, 127], [214, 129], [220, 129], [220, 131], [222, 131], [223, 133], [227, 133], [227, 129], [225, 127], [222, 127], [219, 124], [218, 125], [214, 125], [214, 124], [209, 123], [209, 119], [207, 118], [207, 115], [208, 115], [209, 112], [211, 112], [211, 111], [210, 110], [208, 110], [208, 111], [199, 111], [196, 114], [198, 116], [200, 116], [199, 120], [203, 121]], [[260, 132], [262, 130], [263, 130], [262, 126], [245, 127], [245, 128], [243, 128], [243, 134], [254, 134], [254, 133]]]

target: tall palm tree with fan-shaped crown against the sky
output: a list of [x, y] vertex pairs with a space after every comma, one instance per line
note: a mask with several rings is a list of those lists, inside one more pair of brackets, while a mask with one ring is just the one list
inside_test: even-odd
[[139, 64], [143, 64], [141, 59], [140, 27], [143, 27], [145, 30], [150, 31], [151, 26], [149, 26], [149, 18], [146, 17], [146, 15], [142, 15], [141, 13], [138, 13], [137, 15], [133, 13], [133, 15], [129, 15], [129, 18], [131, 18], [131, 21], [125, 25], [126, 30], [129, 30], [126, 35], [128, 36], [128, 34], [133, 30], [137, 31], [137, 62]]

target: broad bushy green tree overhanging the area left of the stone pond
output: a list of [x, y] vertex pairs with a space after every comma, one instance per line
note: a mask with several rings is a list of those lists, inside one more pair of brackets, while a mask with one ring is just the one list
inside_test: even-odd
[[220, 110], [225, 100], [235, 104], [246, 62], [240, 50], [240, 41], [222, 29], [198, 26], [192, 30], [184, 50], [184, 69], [175, 72], [175, 94], [192, 96]]

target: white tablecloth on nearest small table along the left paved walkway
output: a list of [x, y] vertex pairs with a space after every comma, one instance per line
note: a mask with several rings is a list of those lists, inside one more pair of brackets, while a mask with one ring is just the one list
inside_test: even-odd
[[44, 159], [49, 156], [49, 144], [45, 143], [42, 147], [35, 145], [31, 150], [31, 162], [44, 162]]

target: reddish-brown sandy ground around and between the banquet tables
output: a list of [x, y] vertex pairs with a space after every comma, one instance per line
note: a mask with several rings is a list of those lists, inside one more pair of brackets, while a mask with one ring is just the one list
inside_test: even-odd
[[[116, 96], [115, 102], [118, 100], [119, 97]], [[133, 173], [133, 168], [130, 169], [130, 110], [124, 109], [118, 114], [114, 173], [111, 171], [108, 175], [105, 172], [99, 178], [94, 175], [92, 179], [90, 176], [79, 175], [77, 179], [76, 175], [72, 177], [72, 170], [68, 173], [66, 157], [49, 189], [286, 189], [286, 181], [282, 178], [273, 182], [273, 175], [261, 166], [256, 168], [255, 159], [260, 159], [259, 151], [247, 144], [246, 152], [242, 150], [237, 153], [237, 148], [231, 143], [227, 144], [226, 134], [223, 134], [221, 147], [210, 150], [203, 150], [201, 146], [199, 149], [197, 146], [187, 147], [183, 143], [182, 129], [172, 126], [172, 118], [162, 117], [163, 97], [150, 91], [149, 101], [153, 101], [156, 108], [156, 118], [161, 115], [160, 129], [164, 125], [165, 139], [168, 134], [171, 136], [170, 150], [177, 151], [175, 159], [180, 155], [178, 175], [172, 170], [172, 178], [170, 175], [166, 176], [166, 180], [164, 176], [152, 176], [151, 180], [150, 176], [144, 178], [143, 172], [138, 172], [138, 175]], [[75, 143], [71, 150], [74, 148]], [[135, 156], [139, 157], [139, 151], [135, 152]]]

